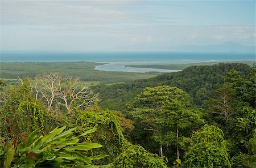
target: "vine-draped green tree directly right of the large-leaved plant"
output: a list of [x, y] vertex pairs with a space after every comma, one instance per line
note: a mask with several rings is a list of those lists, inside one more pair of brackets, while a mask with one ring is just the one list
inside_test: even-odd
[[80, 134], [92, 127], [97, 126], [94, 135], [85, 136], [85, 141], [94, 141], [102, 144], [99, 150], [93, 150], [94, 154], [108, 153], [110, 156], [98, 163], [112, 162], [121, 152], [121, 148], [126, 143], [122, 128], [117, 117], [110, 110], [102, 110], [99, 107], [92, 107], [86, 111], [77, 111], [75, 126], [77, 133]]

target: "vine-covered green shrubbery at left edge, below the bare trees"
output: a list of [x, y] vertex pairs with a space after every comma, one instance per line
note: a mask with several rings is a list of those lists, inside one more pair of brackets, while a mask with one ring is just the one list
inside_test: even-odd
[[[35, 100], [22, 101], [18, 105], [18, 110], [15, 110], [15, 113], [6, 111], [5, 115], [0, 116], [2, 137], [12, 136], [10, 132], [16, 135], [20, 135], [22, 132], [32, 132], [38, 127], [47, 133], [56, 126], [63, 126], [70, 121], [69, 119], [64, 120], [65, 116], [63, 115], [58, 117], [47, 113], [43, 105]], [[10, 128], [11, 131], [6, 132], [6, 128]]]

